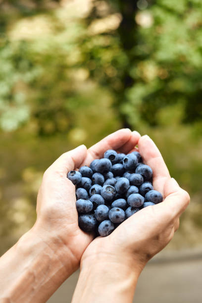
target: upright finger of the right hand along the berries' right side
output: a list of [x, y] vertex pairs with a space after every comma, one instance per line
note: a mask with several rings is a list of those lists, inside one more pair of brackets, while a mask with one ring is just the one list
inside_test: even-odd
[[147, 135], [140, 138], [138, 147], [144, 163], [152, 168], [154, 189], [163, 194], [164, 184], [170, 179], [170, 174], [161, 153]]

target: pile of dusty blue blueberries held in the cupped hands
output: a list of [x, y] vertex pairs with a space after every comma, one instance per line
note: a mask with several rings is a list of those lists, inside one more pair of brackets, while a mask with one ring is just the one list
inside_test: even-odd
[[108, 150], [90, 167], [71, 170], [67, 177], [76, 185], [79, 227], [102, 237], [140, 209], [163, 201], [153, 190], [152, 168], [142, 163], [139, 152]]

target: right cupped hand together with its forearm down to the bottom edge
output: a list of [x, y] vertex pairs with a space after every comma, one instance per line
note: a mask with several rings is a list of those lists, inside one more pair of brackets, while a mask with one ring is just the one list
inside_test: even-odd
[[170, 242], [190, 202], [188, 193], [170, 177], [153, 141], [143, 136], [138, 147], [144, 163], [152, 167], [153, 187], [164, 201], [136, 212], [109, 236], [88, 246], [72, 303], [132, 303], [141, 271]]

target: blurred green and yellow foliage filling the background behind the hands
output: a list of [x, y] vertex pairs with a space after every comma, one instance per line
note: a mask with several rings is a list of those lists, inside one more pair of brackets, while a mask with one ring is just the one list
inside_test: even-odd
[[[35, 221], [43, 171], [121, 127], [149, 134], [202, 227], [202, 1], [0, 1], [0, 238]], [[184, 237], [180, 237], [184, 235]]]

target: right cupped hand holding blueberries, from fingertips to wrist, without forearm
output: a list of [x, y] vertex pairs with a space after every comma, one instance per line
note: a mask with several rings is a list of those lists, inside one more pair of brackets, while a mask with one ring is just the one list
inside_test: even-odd
[[169, 243], [179, 227], [179, 217], [190, 202], [189, 194], [170, 177], [152, 139], [141, 137], [138, 147], [144, 163], [152, 167], [153, 187], [163, 195], [164, 201], [136, 212], [109, 236], [96, 238], [84, 252], [82, 265], [99, 260], [102, 264], [105, 261], [108, 264], [110, 261], [125, 262], [141, 272], [147, 261]]

